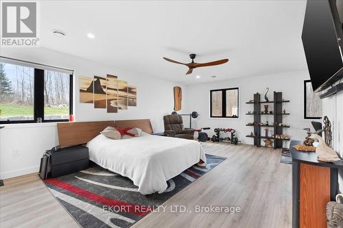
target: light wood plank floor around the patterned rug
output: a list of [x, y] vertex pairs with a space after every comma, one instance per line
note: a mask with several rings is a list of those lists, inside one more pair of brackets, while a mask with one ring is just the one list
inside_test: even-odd
[[[206, 143], [205, 152], [228, 157], [166, 201], [165, 212], [150, 213], [138, 227], [291, 227], [291, 165], [280, 150], [241, 144]], [[78, 227], [37, 175], [4, 181], [0, 227]], [[184, 205], [189, 213], [171, 212]], [[196, 213], [196, 206], [235, 206], [241, 212]]]

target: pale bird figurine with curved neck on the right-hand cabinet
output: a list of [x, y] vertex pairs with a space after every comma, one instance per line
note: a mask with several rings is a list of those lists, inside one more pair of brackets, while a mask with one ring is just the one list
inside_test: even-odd
[[309, 138], [318, 140], [319, 144], [316, 147], [316, 153], [318, 153], [318, 161], [321, 162], [336, 162], [340, 160], [338, 154], [327, 146], [323, 138], [317, 134], [312, 134]]

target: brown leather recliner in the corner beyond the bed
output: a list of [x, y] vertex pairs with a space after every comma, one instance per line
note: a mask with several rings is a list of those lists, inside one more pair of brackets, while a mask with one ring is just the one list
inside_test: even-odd
[[183, 125], [182, 116], [178, 114], [163, 116], [165, 135], [176, 138], [194, 139], [194, 130]]

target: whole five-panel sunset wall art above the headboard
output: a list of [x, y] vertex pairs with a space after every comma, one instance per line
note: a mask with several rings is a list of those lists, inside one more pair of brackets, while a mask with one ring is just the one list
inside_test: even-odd
[[137, 87], [117, 76], [79, 77], [79, 86], [80, 103], [93, 103], [95, 108], [106, 108], [109, 113], [137, 106]]

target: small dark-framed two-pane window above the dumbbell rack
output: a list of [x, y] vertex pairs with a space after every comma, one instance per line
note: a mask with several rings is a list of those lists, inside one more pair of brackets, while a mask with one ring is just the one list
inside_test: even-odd
[[239, 89], [225, 88], [210, 91], [210, 117], [238, 118]]

